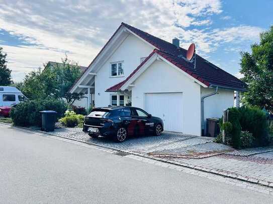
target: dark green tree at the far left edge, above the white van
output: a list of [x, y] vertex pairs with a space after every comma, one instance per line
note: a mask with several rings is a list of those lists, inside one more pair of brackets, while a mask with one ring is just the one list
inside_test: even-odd
[[0, 86], [9, 86], [12, 83], [12, 71], [7, 68], [7, 54], [2, 52], [3, 48], [0, 47]]

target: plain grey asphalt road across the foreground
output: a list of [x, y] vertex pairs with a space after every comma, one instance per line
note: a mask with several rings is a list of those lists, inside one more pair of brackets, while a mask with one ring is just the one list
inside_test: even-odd
[[273, 203], [273, 196], [0, 124], [0, 203]]

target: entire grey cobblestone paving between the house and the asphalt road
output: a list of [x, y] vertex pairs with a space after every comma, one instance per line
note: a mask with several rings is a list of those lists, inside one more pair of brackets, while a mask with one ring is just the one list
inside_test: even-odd
[[[89, 144], [142, 155], [168, 163], [174, 163], [227, 177], [246, 180], [273, 187], [273, 147], [232, 151], [229, 147], [212, 142], [212, 138], [164, 133], [159, 137], [131, 137], [122, 143], [108, 138], [90, 138], [81, 128], [56, 129], [54, 134], [84, 141]], [[222, 151], [202, 159], [158, 157], [158, 153], [188, 154], [188, 152]], [[230, 151], [230, 152], [228, 152]], [[265, 153], [262, 153], [265, 152]], [[156, 154], [152, 154], [156, 153]]]

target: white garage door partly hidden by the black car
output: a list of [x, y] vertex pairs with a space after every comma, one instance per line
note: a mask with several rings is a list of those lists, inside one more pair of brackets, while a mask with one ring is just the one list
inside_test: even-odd
[[182, 93], [147, 93], [145, 110], [164, 122], [164, 130], [183, 132]]

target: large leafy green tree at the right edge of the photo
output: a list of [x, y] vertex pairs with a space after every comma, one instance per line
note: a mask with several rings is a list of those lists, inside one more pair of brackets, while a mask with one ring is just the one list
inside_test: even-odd
[[243, 81], [248, 85], [243, 103], [265, 107], [273, 113], [273, 26], [251, 45], [251, 53], [241, 52]]

